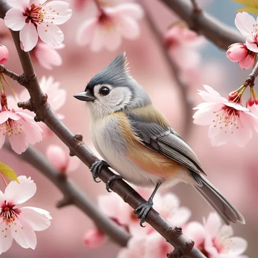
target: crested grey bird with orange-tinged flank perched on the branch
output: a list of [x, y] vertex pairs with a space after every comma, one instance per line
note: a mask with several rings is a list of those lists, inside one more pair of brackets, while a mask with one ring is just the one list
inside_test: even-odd
[[134, 210], [140, 225], [153, 207], [160, 185], [185, 182], [193, 186], [225, 224], [245, 224], [244, 217], [206, 178], [195, 152], [154, 106], [143, 87], [130, 75], [125, 52], [119, 53], [74, 97], [85, 101], [90, 117], [90, 135], [103, 160], [91, 166], [94, 180], [102, 166], [109, 166], [134, 185], [154, 187], [148, 201]]

